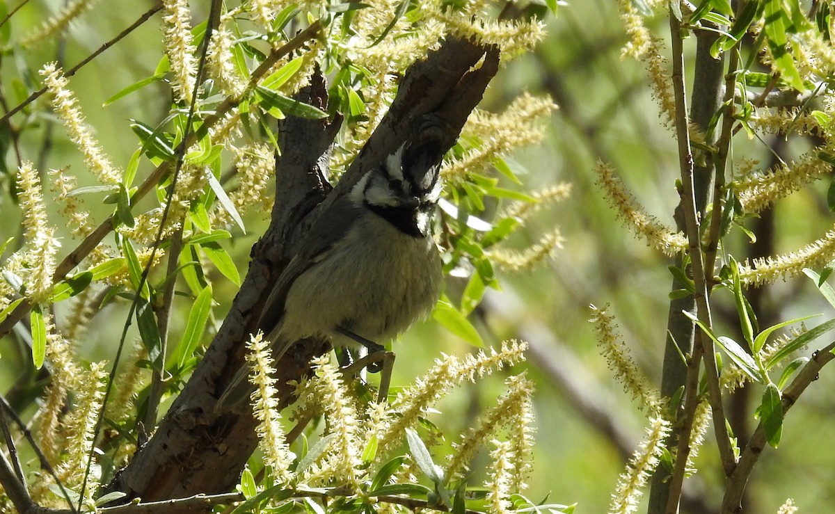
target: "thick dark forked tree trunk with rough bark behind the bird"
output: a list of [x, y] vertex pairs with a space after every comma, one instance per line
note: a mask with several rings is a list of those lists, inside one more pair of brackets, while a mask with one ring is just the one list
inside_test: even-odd
[[[438, 50], [407, 70], [385, 118], [332, 190], [324, 176], [340, 120], [286, 120], [276, 163], [276, 206], [266, 234], [252, 247], [246, 279], [194, 375], [154, 436], [109, 484], [109, 491], [124, 491], [127, 499], [159, 501], [219, 493], [235, 485], [257, 444], [256, 421], [250, 412], [215, 414], [215, 402], [242, 365], [244, 341], [259, 328], [255, 325], [260, 307], [306, 229], [362, 174], [404, 141], [419, 137], [426, 117], [443, 120], [446, 149], [452, 146], [497, 70], [498, 48], [460, 38], [444, 40]], [[326, 84], [321, 75], [313, 78], [300, 100], [325, 108]], [[281, 407], [294, 401], [286, 383], [308, 373], [311, 358], [327, 350], [325, 340], [306, 340], [281, 358], [276, 366]]]

